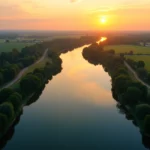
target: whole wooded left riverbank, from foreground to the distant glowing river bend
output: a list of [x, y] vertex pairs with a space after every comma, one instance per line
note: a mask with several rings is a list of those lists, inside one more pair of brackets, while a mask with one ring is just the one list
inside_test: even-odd
[[[4, 88], [0, 91], [0, 138], [2, 138], [9, 127], [13, 125], [15, 118], [17, 118], [31, 97], [36, 94], [48, 80], [51, 80], [53, 76], [61, 71], [62, 60], [59, 56], [61, 53], [64, 53], [61, 46], [66, 49], [66, 53], [76, 47], [80, 47], [82, 44], [84, 45], [94, 40], [95, 38], [88, 38], [88, 40], [76, 39], [75, 41], [73, 39], [62, 39], [58, 40], [60, 43], [59, 47], [57, 46], [59, 44], [57, 40], [54, 40], [52, 43], [43, 43], [45, 47], [49, 47], [49, 51], [47, 49], [41, 59], [44, 59], [47, 55], [50, 61], [46, 62], [45, 66], [42, 65], [42, 68], [35, 68], [32, 72], [26, 74], [14, 89]], [[67, 41], [70, 41], [70, 44], [67, 45]], [[4, 108], [6, 108], [6, 111], [3, 111]], [[8, 114], [7, 112], [10, 113]]]

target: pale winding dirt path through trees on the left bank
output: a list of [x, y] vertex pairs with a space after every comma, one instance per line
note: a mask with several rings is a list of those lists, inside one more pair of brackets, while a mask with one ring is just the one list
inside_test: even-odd
[[28, 70], [29, 67], [31, 67], [31, 66], [33, 66], [33, 65], [35, 65], [35, 64], [38, 64], [38, 63], [40, 63], [41, 61], [43, 61], [43, 59], [47, 56], [47, 52], [48, 52], [48, 49], [45, 50], [43, 56], [42, 56], [39, 60], [37, 60], [34, 64], [32, 64], [32, 65], [30, 65], [30, 66], [28, 66], [28, 67], [22, 69], [22, 70], [19, 72], [19, 74], [16, 76], [15, 79], [13, 79], [11, 82], [9, 82], [9, 83], [7, 83], [6, 85], [4, 85], [2, 88], [0, 88], [0, 90], [2, 90], [2, 89], [4, 89], [4, 88], [8, 88], [9, 86], [13, 85], [15, 82], [17, 82], [17, 81], [22, 77], [22, 75], [25, 73], [26, 70]]

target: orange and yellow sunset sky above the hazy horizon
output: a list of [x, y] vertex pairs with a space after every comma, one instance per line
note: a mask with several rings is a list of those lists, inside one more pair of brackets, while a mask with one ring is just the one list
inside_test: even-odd
[[150, 0], [0, 0], [0, 30], [150, 30]]

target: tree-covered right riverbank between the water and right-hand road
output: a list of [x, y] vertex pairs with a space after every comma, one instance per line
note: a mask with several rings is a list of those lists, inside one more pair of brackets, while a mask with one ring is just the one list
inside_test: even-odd
[[104, 51], [93, 44], [83, 50], [83, 57], [94, 65], [102, 65], [112, 79], [112, 95], [118, 103], [128, 109], [143, 135], [150, 136], [150, 105], [147, 87], [135, 82], [122, 56], [114, 51]]

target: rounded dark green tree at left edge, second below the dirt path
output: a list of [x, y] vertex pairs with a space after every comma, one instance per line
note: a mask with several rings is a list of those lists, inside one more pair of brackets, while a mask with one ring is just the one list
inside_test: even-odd
[[14, 108], [11, 103], [5, 102], [0, 105], [0, 113], [7, 116], [9, 120], [14, 117]]

